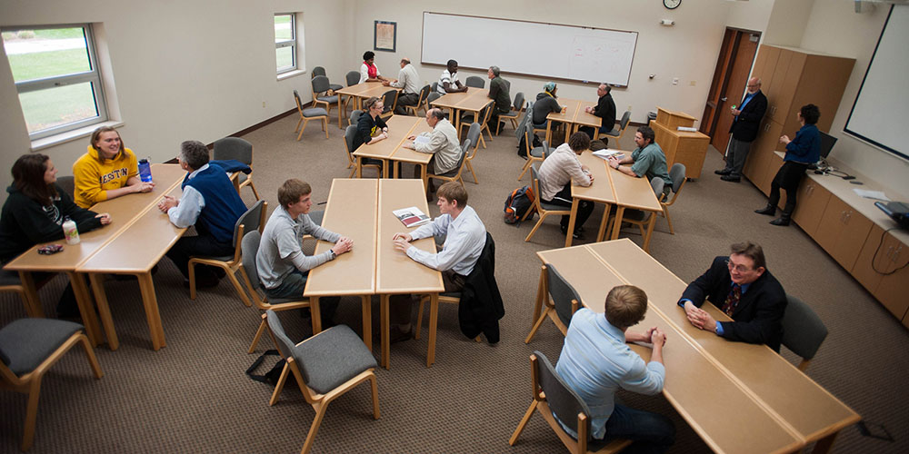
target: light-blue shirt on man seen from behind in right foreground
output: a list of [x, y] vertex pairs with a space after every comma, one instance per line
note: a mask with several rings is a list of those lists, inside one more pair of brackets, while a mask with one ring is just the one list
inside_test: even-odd
[[[644, 363], [625, 344], [624, 331], [609, 323], [604, 314], [587, 308], [574, 312], [555, 371], [590, 408], [594, 439], [606, 435], [616, 390], [654, 395], [663, 390], [666, 377], [663, 364]], [[562, 427], [577, 436], [574, 430]]]

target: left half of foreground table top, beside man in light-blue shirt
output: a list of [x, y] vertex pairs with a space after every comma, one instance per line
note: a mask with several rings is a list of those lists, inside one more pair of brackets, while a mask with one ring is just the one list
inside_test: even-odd
[[[634, 246], [628, 240], [620, 242]], [[537, 256], [546, 264], [554, 264], [581, 296], [584, 306], [596, 312], [604, 311], [609, 290], [626, 283], [624, 276], [610, 268], [589, 245], [537, 252]], [[715, 452], [778, 452], [802, 445], [801, 440], [768, 412], [752, 392], [718, 367], [703, 349], [684, 335], [684, 331], [665, 317], [664, 311], [654, 303], [653, 295], [648, 293], [648, 297], [646, 317], [635, 328], [644, 330], [659, 326], [666, 331], [669, 341], [664, 347], [664, 396], [711, 449]], [[644, 360], [649, 360], [649, 348], [632, 345], [632, 349]]]

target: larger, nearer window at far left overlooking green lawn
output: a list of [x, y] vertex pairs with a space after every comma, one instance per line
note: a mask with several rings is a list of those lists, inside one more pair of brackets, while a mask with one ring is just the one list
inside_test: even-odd
[[2, 32], [30, 139], [107, 120], [91, 25], [5, 27]]

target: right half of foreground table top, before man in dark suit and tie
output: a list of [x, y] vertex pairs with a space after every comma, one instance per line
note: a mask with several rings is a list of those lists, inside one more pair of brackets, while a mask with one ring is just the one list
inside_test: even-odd
[[[677, 304], [687, 284], [633, 242], [620, 240], [588, 247], [624, 281], [644, 289], [651, 304], [678, 331], [684, 332], [686, 338], [751, 390], [764, 407], [778, 414], [805, 442], [859, 420], [852, 409], [769, 347], [726, 341], [712, 332], [694, 328]], [[704, 304], [702, 309], [709, 311], [715, 320], [732, 320], [713, 304]]]

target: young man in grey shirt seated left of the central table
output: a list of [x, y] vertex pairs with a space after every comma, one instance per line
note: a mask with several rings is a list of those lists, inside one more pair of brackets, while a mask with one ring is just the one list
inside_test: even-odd
[[[259, 252], [255, 255], [255, 270], [268, 298], [302, 298], [310, 270], [354, 247], [350, 238], [329, 232], [309, 218], [312, 192], [309, 183], [295, 178], [278, 188], [280, 206], [265, 223]], [[334, 242], [335, 246], [318, 255], [306, 255], [301, 247], [305, 234]], [[319, 299], [324, 324], [331, 324], [339, 300], [337, 297]]]

